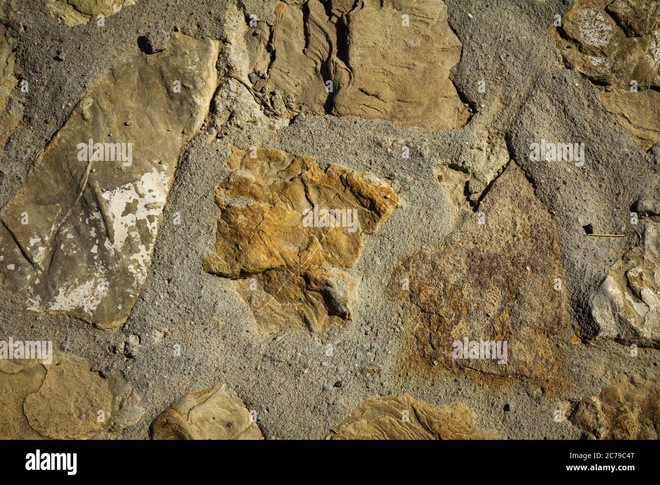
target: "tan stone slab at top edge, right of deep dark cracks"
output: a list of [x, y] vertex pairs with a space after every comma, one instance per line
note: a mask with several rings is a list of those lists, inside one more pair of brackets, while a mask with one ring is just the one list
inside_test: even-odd
[[461, 42], [443, 1], [365, 1], [346, 21], [348, 62], [337, 70], [333, 113], [427, 129], [465, 124], [467, 108], [449, 80]]

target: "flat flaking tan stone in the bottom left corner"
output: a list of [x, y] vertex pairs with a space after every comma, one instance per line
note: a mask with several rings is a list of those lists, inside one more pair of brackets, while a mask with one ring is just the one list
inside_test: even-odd
[[87, 439], [132, 426], [144, 414], [121, 377], [103, 379], [77, 356], [0, 360], [1, 439]]

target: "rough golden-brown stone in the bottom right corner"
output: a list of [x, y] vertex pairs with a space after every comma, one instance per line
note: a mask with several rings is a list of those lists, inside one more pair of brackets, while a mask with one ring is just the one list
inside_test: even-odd
[[599, 439], [659, 439], [658, 376], [616, 376], [598, 396], [579, 401], [570, 422]]

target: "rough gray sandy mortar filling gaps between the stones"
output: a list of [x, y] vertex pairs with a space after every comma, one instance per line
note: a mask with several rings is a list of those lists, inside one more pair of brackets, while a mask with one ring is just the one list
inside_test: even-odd
[[[148, 437], [149, 424], [187, 391], [226, 382], [256, 410], [267, 439], [323, 438], [360, 401], [373, 395], [407, 392], [434, 404], [462, 401], [479, 415], [483, 429], [511, 438], [576, 438], [568, 422], [556, 423], [552, 412], [565, 401], [577, 401], [599, 389], [617, 373], [657, 370], [660, 351], [614, 342], [562, 344], [568, 376], [561, 395], [529, 397], [523, 380], [487, 386], [468, 374], [438, 372], [433, 379], [403, 372], [397, 357], [405, 335], [407, 313], [385, 297], [393, 270], [407, 256], [433, 247], [451, 232], [461, 215], [444, 195], [433, 173], [442, 160], [457, 160], [473, 146], [479, 129], [506, 135], [510, 155], [524, 170], [537, 197], [558, 228], [570, 292], [568, 311], [575, 329], [587, 325], [585, 298], [612, 262], [630, 246], [624, 238], [587, 238], [583, 224], [615, 232], [615, 219], [626, 220], [636, 197], [647, 189], [651, 158], [595, 101], [591, 84], [564, 69], [554, 40], [546, 34], [552, 17], [570, 2], [548, 0], [446, 0], [449, 23], [463, 56], [453, 82], [477, 111], [459, 129], [430, 132], [387, 121], [354, 117], [299, 115], [281, 131], [246, 126], [221, 141], [202, 133], [182, 150], [154, 250], [149, 276], [123, 329], [101, 331], [59, 315], [36, 315], [20, 309], [11, 294], [0, 295], [0, 338], [65, 340], [103, 375], [121, 373], [143, 397], [141, 422], [117, 436]], [[0, 205], [24, 181], [34, 156], [42, 150], [86, 90], [117, 59], [137, 51], [137, 39], [158, 26], [197, 37], [223, 40], [223, 1], [139, 0], [106, 18], [69, 28], [49, 16], [42, 0], [24, 0], [24, 30], [16, 57], [18, 77], [30, 81], [30, 93], [13, 97], [25, 106], [20, 129], [0, 156]], [[242, 0], [246, 16], [257, 13], [272, 22], [275, 2]], [[471, 13], [473, 18], [467, 15]], [[53, 59], [57, 51], [64, 61]], [[504, 65], [506, 64], [506, 65]], [[486, 81], [479, 93], [477, 82]], [[430, 80], [432, 82], [432, 80]], [[483, 106], [482, 106], [483, 105]], [[587, 163], [580, 171], [562, 164], [535, 164], [527, 159], [529, 143], [540, 137], [583, 141]], [[216, 183], [228, 173], [230, 145], [259, 145], [368, 171], [387, 179], [399, 192], [401, 207], [374, 234], [351, 270], [360, 279], [352, 321], [327, 335], [282, 333], [265, 337], [232, 283], [208, 275], [200, 264], [213, 236]], [[390, 146], [391, 153], [387, 152]], [[402, 160], [401, 146], [411, 147]], [[565, 182], [565, 183], [564, 183]], [[180, 225], [174, 224], [180, 214]], [[469, 214], [467, 215], [469, 216]], [[153, 331], [170, 333], [156, 344]], [[139, 335], [136, 358], [123, 355], [123, 342]], [[568, 339], [566, 339], [568, 342]], [[335, 346], [325, 355], [325, 346]], [[182, 354], [175, 357], [173, 346]], [[112, 349], [117, 348], [117, 354]], [[370, 377], [356, 371], [377, 365]], [[323, 390], [342, 380], [343, 387]], [[504, 411], [504, 404], [510, 411]]]

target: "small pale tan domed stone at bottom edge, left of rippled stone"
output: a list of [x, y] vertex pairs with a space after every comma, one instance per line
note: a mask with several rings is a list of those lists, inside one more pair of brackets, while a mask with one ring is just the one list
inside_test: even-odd
[[240, 397], [225, 384], [187, 393], [152, 422], [152, 439], [263, 439]]

